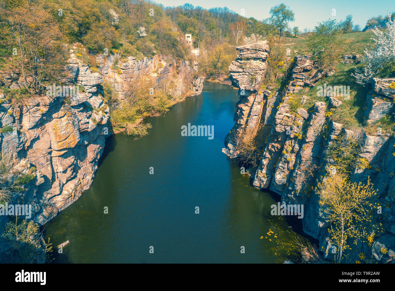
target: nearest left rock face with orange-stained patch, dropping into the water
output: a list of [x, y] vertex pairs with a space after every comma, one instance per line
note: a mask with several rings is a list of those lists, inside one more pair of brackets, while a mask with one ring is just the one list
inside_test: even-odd
[[19, 107], [6, 102], [0, 108], [1, 126], [14, 127], [0, 133], [2, 156], [9, 160], [11, 173], [36, 168], [34, 180], [19, 198], [32, 205], [39, 224], [89, 188], [109, 132], [109, 108], [98, 88], [102, 76], [92, 73], [73, 53], [69, 62], [70, 78], [83, 92], [31, 97]]

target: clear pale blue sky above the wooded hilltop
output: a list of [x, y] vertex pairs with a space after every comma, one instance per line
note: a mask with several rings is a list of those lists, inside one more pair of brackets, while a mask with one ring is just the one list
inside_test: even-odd
[[[284, 3], [295, 13], [295, 22], [290, 26], [298, 26], [299, 30], [313, 29], [318, 22], [330, 19], [340, 21], [346, 15], [352, 14], [354, 24], [365, 27], [366, 21], [378, 15], [386, 15], [387, 11], [395, 11], [395, 0], [156, 0], [164, 6], [179, 6], [190, 3], [209, 9], [212, 7], [228, 7], [236, 13], [245, 10], [245, 17], [254, 17], [258, 20], [269, 17], [272, 6]], [[336, 16], [332, 16], [332, 9], [336, 9]]]

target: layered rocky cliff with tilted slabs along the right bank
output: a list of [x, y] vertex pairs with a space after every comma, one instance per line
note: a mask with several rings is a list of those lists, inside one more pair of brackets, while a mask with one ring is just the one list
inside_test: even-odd
[[[257, 129], [259, 123], [259, 130], [269, 127], [258, 166], [250, 170], [251, 182], [255, 187], [280, 195], [282, 204], [303, 205], [304, 232], [318, 239], [324, 257], [331, 259], [329, 223], [323, 217], [318, 204], [320, 197], [314, 188], [331, 172], [333, 161], [325, 155], [328, 146], [339, 135], [357, 133], [331, 119], [329, 109], [336, 110], [341, 104], [334, 97], [329, 97], [329, 107], [327, 103], [317, 101], [308, 110], [291, 108], [288, 100], [293, 93], [305, 86], [312, 87], [327, 76], [315, 66], [311, 55], [295, 57], [290, 65], [290, 75], [286, 77], [288, 86], [273, 92], [269, 90], [272, 88], [260, 86], [265, 77], [269, 44], [261, 42], [237, 50], [239, 55], [229, 66], [229, 78], [239, 89], [240, 100], [236, 105], [235, 126], [225, 139], [223, 152], [230, 158], [237, 158], [237, 137], [243, 129]], [[367, 94], [367, 122], [393, 113], [394, 82], [395, 79], [374, 79], [373, 90]], [[306, 100], [307, 96], [303, 96], [302, 105]], [[369, 162], [369, 167], [356, 167], [350, 179], [365, 183], [370, 177], [378, 188], [381, 205], [385, 205], [382, 220], [387, 233], [370, 246], [359, 243], [357, 252], [349, 258], [351, 262], [358, 260], [358, 253], [372, 254], [380, 262], [395, 261], [394, 142], [394, 137], [389, 134], [363, 133], [359, 156]], [[380, 251], [382, 248], [388, 251], [383, 253]]]

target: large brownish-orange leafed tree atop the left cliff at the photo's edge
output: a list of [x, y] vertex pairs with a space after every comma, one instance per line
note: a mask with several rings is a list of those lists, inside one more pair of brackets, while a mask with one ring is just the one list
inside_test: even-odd
[[[19, 80], [17, 85], [30, 93], [59, 82], [68, 51], [62, 46], [62, 33], [51, 14], [40, 6], [22, 1], [14, 7], [0, 8], [4, 45], [15, 51], [8, 67]], [[45, 84], [43, 84], [45, 80]]]

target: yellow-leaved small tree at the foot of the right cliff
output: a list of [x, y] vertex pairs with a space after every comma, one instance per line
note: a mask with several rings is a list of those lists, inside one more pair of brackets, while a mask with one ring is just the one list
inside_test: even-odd
[[329, 242], [336, 248], [336, 263], [342, 261], [346, 250], [351, 250], [352, 240], [355, 244], [365, 242], [374, 231], [382, 230], [382, 225], [371, 219], [376, 207], [370, 200], [377, 193], [370, 179], [366, 184], [357, 184], [335, 174], [318, 183], [315, 191], [320, 197], [325, 220], [331, 223]]

